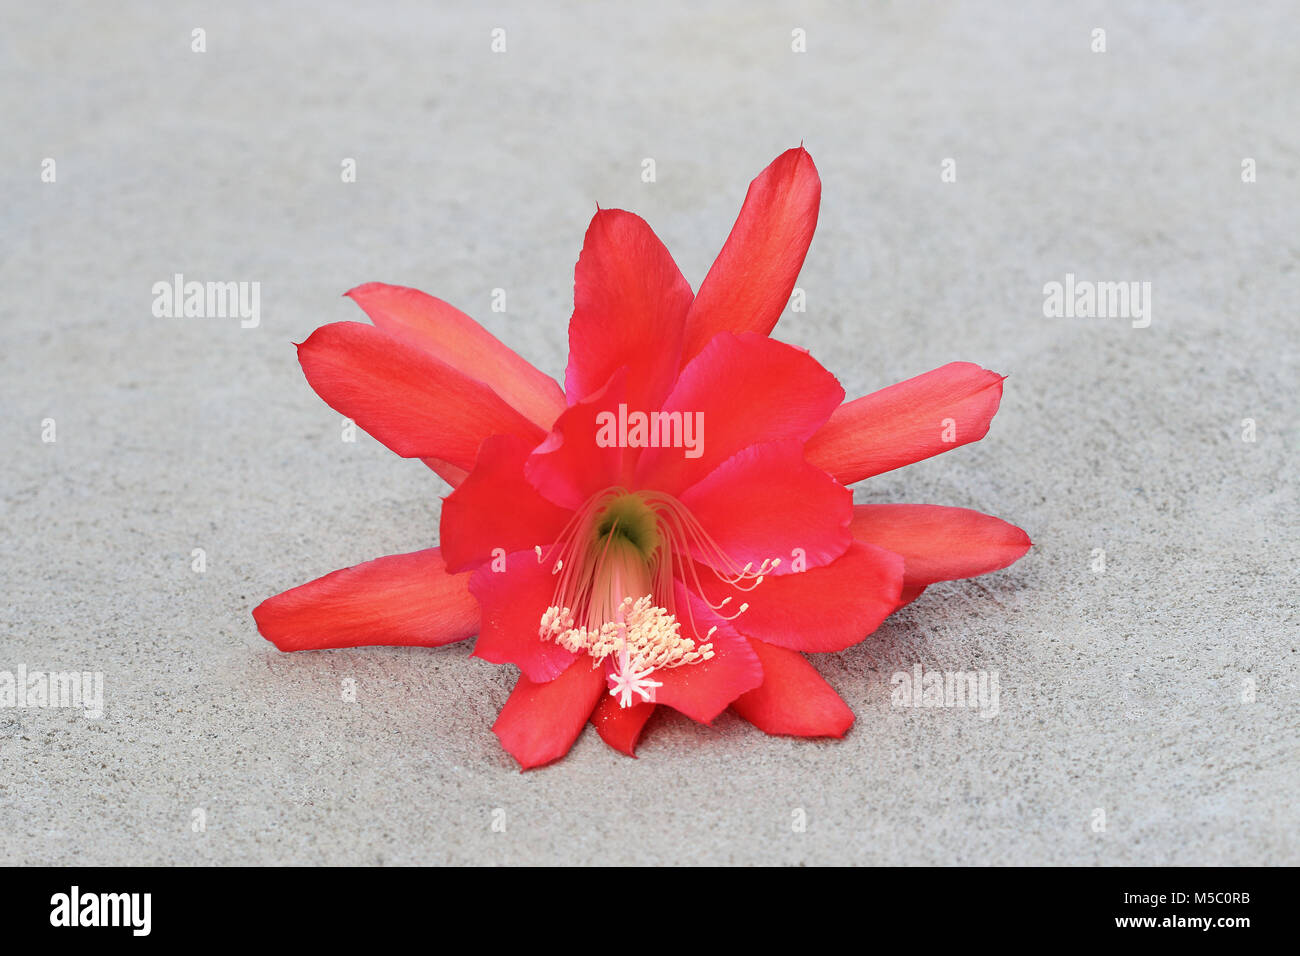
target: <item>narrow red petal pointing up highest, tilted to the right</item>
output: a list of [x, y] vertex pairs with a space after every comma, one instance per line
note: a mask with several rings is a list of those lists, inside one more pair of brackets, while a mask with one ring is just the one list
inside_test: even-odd
[[803, 267], [820, 202], [822, 179], [802, 146], [758, 174], [690, 306], [682, 359], [719, 332], [772, 330]]

